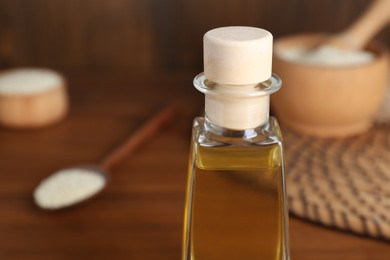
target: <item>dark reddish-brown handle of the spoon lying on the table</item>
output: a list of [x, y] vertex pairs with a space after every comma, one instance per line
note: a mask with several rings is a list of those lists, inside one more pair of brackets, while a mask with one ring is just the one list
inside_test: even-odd
[[142, 143], [151, 138], [165, 124], [172, 121], [177, 114], [179, 101], [173, 101], [153, 116], [148, 122], [132, 133], [121, 145], [110, 152], [100, 163], [100, 166], [106, 172], [109, 172], [126, 156], [132, 153]]

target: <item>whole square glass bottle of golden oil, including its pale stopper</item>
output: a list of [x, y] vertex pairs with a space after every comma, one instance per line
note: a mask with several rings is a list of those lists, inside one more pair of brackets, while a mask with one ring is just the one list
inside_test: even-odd
[[[261, 69], [255, 73], [263, 75], [252, 78], [245, 73], [231, 77], [226, 66], [231, 58], [245, 69], [248, 62], [242, 59], [257, 55], [237, 59], [242, 57], [240, 51], [253, 52], [253, 46], [246, 44], [248, 38], [250, 44], [253, 37], [261, 38], [258, 41], [264, 45], [263, 38], [270, 35], [252, 27], [223, 27], [205, 35], [205, 75], [194, 79], [195, 87], [205, 93], [205, 117], [196, 118], [193, 124], [184, 220], [185, 260], [289, 259], [282, 136], [275, 118], [268, 116], [269, 95], [280, 88], [281, 81], [270, 75], [270, 64], [259, 65]], [[226, 38], [238, 44], [228, 42], [226, 47]], [[272, 35], [266, 45], [268, 57], [262, 53], [260, 59], [269, 63]], [[224, 50], [218, 53], [221, 48]], [[219, 60], [210, 55], [217, 55]], [[221, 56], [225, 64], [215, 68]], [[237, 66], [232, 69], [237, 71]], [[224, 76], [226, 73], [229, 75]]]

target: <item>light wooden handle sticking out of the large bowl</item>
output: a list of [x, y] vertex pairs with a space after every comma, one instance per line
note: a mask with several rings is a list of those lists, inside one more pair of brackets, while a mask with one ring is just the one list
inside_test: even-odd
[[375, 0], [347, 30], [326, 42], [350, 50], [360, 50], [372, 37], [390, 22], [390, 0]]

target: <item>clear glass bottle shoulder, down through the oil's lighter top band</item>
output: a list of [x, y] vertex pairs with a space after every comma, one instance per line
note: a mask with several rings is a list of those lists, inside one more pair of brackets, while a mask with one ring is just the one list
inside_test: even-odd
[[[253, 129], [251, 135], [218, 135], [204, 118], [193, 125], [192, 162], [200, 169], [274, 169], [283, 164], [283, 146], [276, 120]], [[229, 133], [232, 134], [232, 133]], [[233, 133], [234, 134], [234, 133]], [[240, 133], [236, 133], [237, 135]]]

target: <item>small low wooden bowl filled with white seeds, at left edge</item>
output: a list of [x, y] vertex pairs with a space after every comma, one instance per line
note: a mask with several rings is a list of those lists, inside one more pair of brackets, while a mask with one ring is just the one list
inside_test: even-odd
[[0, 73], [0, 124], [39, 128], [63, 119], [68, 111], [64, 78], [47, 69], [13, 69]]

